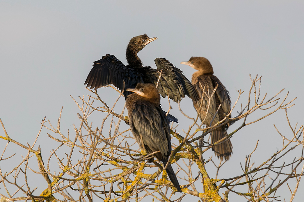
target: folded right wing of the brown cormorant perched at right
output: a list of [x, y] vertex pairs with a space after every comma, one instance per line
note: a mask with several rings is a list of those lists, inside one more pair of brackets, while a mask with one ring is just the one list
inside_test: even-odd
[[216, 76], [212, 75], [211, 78], [213, 85], [214, 86], [218, 85], [216, 89], [216, 95], [219, 98], [220, 103], [222, 103], [221, 107], [223, 109], [223, 112], [228, 114], [230, 112], [230, 107], [231, 107], [229, 92]]

